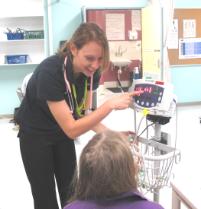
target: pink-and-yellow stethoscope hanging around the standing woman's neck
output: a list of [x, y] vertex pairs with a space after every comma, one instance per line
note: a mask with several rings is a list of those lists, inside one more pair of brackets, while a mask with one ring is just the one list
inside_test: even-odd
[[[75, 85], [72, 84], [72, 91], [71, 91], [71, 86], [70, 86], [70, 83], [69, 83], [68, 78], [67, 78], [67, 66], [66, 66], [66, 63], [67, 63], [67, 56], [64, 59], [63, 75], [64, 75], [64, 81], [65, 81], [65, 86], [66, 86], [66, 93], [67, 93], [67, 96], [69, 98], [70, 111], [71, 111], [71, 113], [73, 113], [74, 110], [75, 110], [77, 115], [79, 117], [82, 117], [83, 116], [82, 112], [83, 112], [83, 110], [85, 108], [86, 97], [87, 97], [87, 79], [85, 80], [84, 96], [83, 96], [82, 102], [81, 102], [80, 105], [78, 105], [77, 93], [76, 93]], [[73, 96], [74, 96], [75, 100], [73, 100]], [[93, 75], [90, 78], [89, 110], [85, 110], [86, 112], [90, 112], [92, 110], [92, 96], [93, 96]]]

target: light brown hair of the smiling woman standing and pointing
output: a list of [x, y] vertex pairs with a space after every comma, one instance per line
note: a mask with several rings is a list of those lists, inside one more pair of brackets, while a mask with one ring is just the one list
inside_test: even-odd
[[103, 49], [103, 64], [101, 70], [106, 69], [109, 66], [109, 44], [105, 35], [105, 32], [95, 23], [82, 23], [74, 32], [72, 38], [66, 41], [63, 46], [58, 50], [58, 54], [62, 57], [70, 55], [70, 45], [76, 46], [79, 50], [85, 44], [94, 41], [99, 44]]

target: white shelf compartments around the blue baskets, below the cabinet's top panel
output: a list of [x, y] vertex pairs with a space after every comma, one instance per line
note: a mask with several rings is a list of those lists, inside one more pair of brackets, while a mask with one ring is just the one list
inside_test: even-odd
[[[9, 28], [12, 32], [17, 28], [25, 31], [44, 30], [43, 16], [0, 17], [0, 65], [6, 64], [6, 55], [28, 55], [28, 63], [38, 64], [44, 59], [44, 39], [7, 40]], [[25, 63], [26, 64], [26, 63]]]

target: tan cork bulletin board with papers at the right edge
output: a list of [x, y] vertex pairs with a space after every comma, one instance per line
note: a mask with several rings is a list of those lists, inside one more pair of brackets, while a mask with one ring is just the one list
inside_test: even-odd
[[[177, 47], [168, 47], [170, 65], [201, 64], [201, 9], [175, 9], [174, 20], [177, 21], [176, 35], [178, 37], [175, 39], [177, 39], [178, 45]], [[193, 24], [192, 30], [190, 30], [191, 25], [187, 24]], [[187, 42], [183, 43], [184, 41]], [[195, 56], [182, 57], [181, 54], [186, 53], [184, 50], [187, 49], [195, 50]], [[191, 53], [194, 54], [194, 52]]]

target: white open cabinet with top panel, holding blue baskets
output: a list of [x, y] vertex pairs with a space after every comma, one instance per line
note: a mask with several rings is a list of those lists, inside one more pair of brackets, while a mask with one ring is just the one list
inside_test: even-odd
[[[12, 4], [12, 7], [10, 6]], [[44, 31], [44, 11], [42, 0], [6, 1], [0, 8], [0, 66], [7, 64], [7, 55], [27, 55], [26, 63], [38, 64], [45, 57], [43, 37], [7, 40], [9, 28], [15, 32], [17, 28], [25, 31]], [[42, 38], [41, 38], [42, 37]], [[13, 64], [12, 64], [13, 65]], [[19, 65], [19, 64], [17, 64]]]

